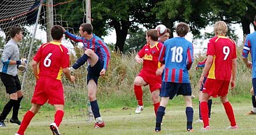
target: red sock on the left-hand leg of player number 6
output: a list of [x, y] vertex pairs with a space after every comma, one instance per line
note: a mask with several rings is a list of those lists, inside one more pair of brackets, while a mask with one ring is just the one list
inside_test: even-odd
[[31, 119], [34, 117], [34, 113], [31, 111], [27, 111], [22, 119], [22, 124], [20, 125], [20, 128], [18, 130], [18, 134], [24, 134], [25, 130], [27, 129], [27, 126], [29, 126], [29, 123]]

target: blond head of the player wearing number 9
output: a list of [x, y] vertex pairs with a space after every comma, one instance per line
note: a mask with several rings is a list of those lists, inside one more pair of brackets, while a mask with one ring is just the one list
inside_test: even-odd
[[216, 21], [214, 24], [214, 33], [216, 36], [225, 36], [227, 34], [227, 24], [224, 21]]

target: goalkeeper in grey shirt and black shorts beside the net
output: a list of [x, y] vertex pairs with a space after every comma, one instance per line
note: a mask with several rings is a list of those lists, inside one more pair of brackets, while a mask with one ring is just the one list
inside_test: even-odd
[[0, 115], [0, 127], [6, 126], [3, 121], [10, 110], [12, 110], [12, 118], [10, 118], [10, 122], [20, 125], [18, 113], [20, 101], [22, 101], [23, 98], [20, 81], [17, 75], [17, 66], [20, 64], [26, 65], [24, 61], [20, 60], [20, 51], [17, 46], [17, 43], [23, 38], [22, 28], [11, 27], [9, 33], [11, 39], [6, 43], [2, 52], [0, 78], [3, 85], [5, 85], [5, 90], [6, 93], [9, 94], [10, 100], [5, 107], [3, 107], [2, 114]]

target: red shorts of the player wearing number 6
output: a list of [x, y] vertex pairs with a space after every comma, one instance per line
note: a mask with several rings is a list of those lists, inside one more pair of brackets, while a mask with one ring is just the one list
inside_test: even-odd
[[41, 77], [35, 85], [35, 91], [31, 103], [43, 105], [64, 105], [64, 92], [62, 82], [56, 79]]

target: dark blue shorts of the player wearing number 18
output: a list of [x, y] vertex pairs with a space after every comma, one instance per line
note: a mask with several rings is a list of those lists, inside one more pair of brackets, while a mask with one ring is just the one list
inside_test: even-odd
[[175, 95], [178, 96], [179, 94], [191, 96], [190, 83], [162, 82], [160, 97], [170, 97], [172, 99]]

